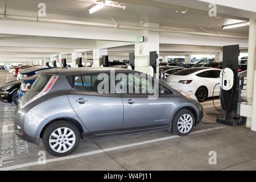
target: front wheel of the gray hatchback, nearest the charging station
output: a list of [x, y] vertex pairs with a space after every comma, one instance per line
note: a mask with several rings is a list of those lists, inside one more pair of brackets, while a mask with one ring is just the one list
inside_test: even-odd
[[[189, 119], [189, 117], [191, 119]], [[181, 109], [177, 111], [177, 113], [174, 116], [174, 119], [172, 120], [172, 133], [183, 137], [191, 133], [194, 126], [195, 116], [193, 115], [193, 113], [190, 110]], [[187, 129], [187, 131], [185, 131], [185, 129]]]

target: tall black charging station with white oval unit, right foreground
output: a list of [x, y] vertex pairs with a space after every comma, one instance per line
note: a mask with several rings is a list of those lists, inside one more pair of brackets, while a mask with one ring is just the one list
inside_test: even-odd
[[223, 69], [220, 72], [220, 100], [224, 114], [221, 118], [217, 118], [217, 122], [229, 126], [238, 126], [244, 122], [240, 116], [243, 77], [238, 77], [239, 54], [239, 45], [223, 47]]

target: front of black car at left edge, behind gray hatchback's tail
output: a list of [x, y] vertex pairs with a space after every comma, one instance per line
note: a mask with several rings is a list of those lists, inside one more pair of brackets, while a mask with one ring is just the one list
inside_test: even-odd
[[18, 104], [18, 89], [20, 88], [20, 81], [7, 82], [0, 87], [0, 101], [2, 102], [14, 102]]

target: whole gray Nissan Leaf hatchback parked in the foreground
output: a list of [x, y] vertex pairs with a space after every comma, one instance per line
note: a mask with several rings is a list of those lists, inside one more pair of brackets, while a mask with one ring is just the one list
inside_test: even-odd
[[80, 139], [165, 129], [188, 135], [203, 107], [175, 89], [121, 68], [41, 71], [13, 113], [19, 138], [55, 156], [76, 150]]

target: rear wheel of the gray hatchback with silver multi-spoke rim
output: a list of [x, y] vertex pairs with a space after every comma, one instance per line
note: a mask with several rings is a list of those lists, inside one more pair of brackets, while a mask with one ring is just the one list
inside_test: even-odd
[[[59, 129], [61, 129], [61, 138], [57, 138], [59, 137]], [[65, 131], [66, 135], [63, 136]], [[72, 131], [73, 134], [71, 134]], [[80, 138], [81, 133], [76, 125], [68, 121], [56, 121], [51, 123], [49, 126], [47, 126], [46, 130], [44, 130], [43, 144], [49, 154], [58, 157], [67, 156], [76, 150], [77, 146], [79, 145]]]

